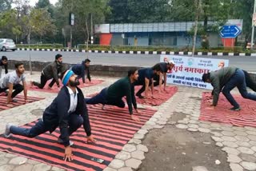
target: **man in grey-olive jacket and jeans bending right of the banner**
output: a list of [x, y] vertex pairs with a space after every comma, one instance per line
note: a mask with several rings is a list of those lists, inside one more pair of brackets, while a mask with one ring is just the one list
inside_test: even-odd
[[211, 83], [214, 87], [214, 100], [211, 104], [213, 107], [218, 104], [219, 93], [222, 92], [230, 104], [234, 106], [230, 110], [239, 111], [240, 106], [230, 93], [234, 87], [238, 87], [242, 97], [256, 101], [256, 94], [247, 92], [245, 73], [236, 67], [224, 67], [221, 70], [203, 74], [202, 81]]

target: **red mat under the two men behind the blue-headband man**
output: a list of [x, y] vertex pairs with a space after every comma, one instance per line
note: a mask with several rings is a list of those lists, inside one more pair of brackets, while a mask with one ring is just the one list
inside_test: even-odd
[[[83, 85], [82, 83], [82, 79], [79, 80], [80, 81], [80, 85], [78, 85], [79, 88], [84, 88], [84, 87], [90, 87], [93, 85], [98, 85], [101, 84], [102, 80], [91, 80], [91, 82], [89, 82], [88, 80], [86, 81], [86, 85]], [[58, 93], [59, 89], [58, 86], [56, 84], [53, 85], [53, 87], [51, 89], [48, 88], [48, 85], [50, 84], [51, 80], [48, 81], [45, 85], [45, 87], [43, 89], [39, 89], [37, 86], [31, 86], [30, 83], [28, 83], [29, 86], [29, 90], [33, 90], [33, 91], [40, 91], [40, 92], [46, 92], [46, 93]]]

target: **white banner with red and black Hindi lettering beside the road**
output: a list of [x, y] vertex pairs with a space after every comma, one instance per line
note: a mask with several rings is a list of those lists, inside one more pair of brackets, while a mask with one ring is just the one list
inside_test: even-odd
[[229, 60], [194, 58], [178, 55], [161, 55], [160, 62], [173, 60], [175, 66], [167, 73], [167, 83], [213, 89], [209, 83], [202, 82], [202, 74], [229, 66]]

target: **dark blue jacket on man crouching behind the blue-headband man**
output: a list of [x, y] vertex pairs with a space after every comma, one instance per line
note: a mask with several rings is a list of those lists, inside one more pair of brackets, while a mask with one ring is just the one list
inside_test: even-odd
[[82, 62], [82, 64], [76, 64], [76, 65], [72, 66], [72, 70], [73, 70], [74, 74], [78, 75], [78, 79], [82, 78], [83, 83], [86, 82], [86, 79], [85, 79], [86, 74], [87, 74], [87, 78], [90, 81], [90, 70], [89, 70], [89, 67], [85, 66], [84, 61]]

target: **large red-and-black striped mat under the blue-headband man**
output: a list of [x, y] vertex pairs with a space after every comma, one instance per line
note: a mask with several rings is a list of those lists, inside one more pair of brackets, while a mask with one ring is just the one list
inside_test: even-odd
[[[92, 133], [98, 140], [96, 144], [86, 144], [84, 129], [80, 128], [70, 140], [74, 141], [74, 161], [63, 161], [63, 145], [56, 141], [59, 130], [54, 133], [44, 133], [35, 138], [13, 136], [9, 139], [0, 137], [0, 150], [9, 151], [18, 155], [41, 161], [49, 165], [55, 165], [67, 170], [103, 170], [114, 159], [115, 155], [122, 150], [134, 133], [145, 124], [156, 112], [153, 109], [140, 109], [141, 121], [130, 120], [128, 109], [120, 109], [106, 106], [103, 111], [101, 105], [88, 105]], [[30, 128], [35, 122], [24, 125]], [[99, 164], [92, 161], [92, 157], [103, 159]]]

